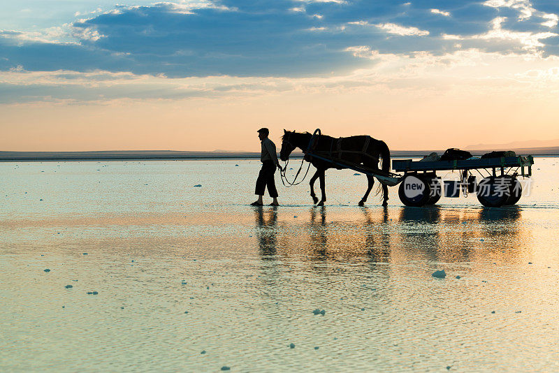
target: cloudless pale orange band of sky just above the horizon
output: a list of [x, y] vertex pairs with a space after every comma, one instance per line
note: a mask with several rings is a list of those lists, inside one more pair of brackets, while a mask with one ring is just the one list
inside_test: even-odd
[[414, 92], [282, 94], [256, 98], [6, 105], [0, 150], [259, 151], [256, 129], [368, 134], [391, 149], [443, 149], [559, 138], [556, 98]]

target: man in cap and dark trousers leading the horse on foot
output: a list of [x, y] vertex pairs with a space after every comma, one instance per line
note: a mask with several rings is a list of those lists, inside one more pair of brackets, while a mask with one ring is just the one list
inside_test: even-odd
[[279, 166], [279, 161], [277, 161], [275, 144], [268, 138], [269, 133], [270, 131], [266, 128], [258, 130], [258, 137], [262, 147], [262, 152], [260, 154], [262, 168], [258, 175], [258, 179], [256, 179], [256, 189], [254, 191], [258, 196], [258, 200], [251, 203], [253, 206], [261, 206], [263, 204], [262, 196], [264, 195], [266, 186], [268, 186], [270, 197], [274, 199], [273, 202], [270, 203], [270, 206], [279, 206], [279, 203], [277, 203], [277, 189], [275, 189], [274, 173], [276, 167], [281, 171], [282, 166]]

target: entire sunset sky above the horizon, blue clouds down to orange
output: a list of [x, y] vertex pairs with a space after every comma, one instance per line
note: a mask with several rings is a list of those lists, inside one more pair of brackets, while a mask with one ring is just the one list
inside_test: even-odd
[[[0, 150], [559, 138], [559, 1], [0, 0]], [[559, 144], [558, 144], [559, 145]]]

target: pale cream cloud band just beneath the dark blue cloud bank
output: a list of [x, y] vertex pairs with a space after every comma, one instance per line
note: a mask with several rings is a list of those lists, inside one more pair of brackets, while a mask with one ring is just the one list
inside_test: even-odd
[[[348, 47], [347, 54], [374, 62], [343, 75], [307, 78], [233, 77], [168, 78], [110, 71], [25, 71], [21, 66], [0, 72], [0, 104], [6, 103], [110, 103], [122, 100], [174, 101], [181, 99], [242, 100], [265, 95], [344, 94], [349, 91], [442, 92], [451, 85], [508, 89], [518, 85], [559, 85], [559, 57], [526, 59], [476, 49], [447, 54], [382, 53], [367, 46]], [[498, 88], [498, 84], [501, 88]], [[556, 88], [555, 88], [556, 89]], [[547, 92], [546, 88], [542, 92]]]

